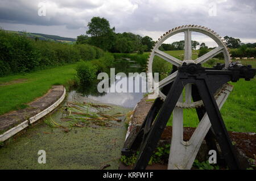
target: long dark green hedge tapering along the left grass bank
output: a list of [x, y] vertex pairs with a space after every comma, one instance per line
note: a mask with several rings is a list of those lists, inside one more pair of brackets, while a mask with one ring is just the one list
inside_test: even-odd
[[35, 41], [26, 36], [0, 30], [0, 77], [80, 60], [93, 60], [102, 56], [104, 51], [91, 45]]

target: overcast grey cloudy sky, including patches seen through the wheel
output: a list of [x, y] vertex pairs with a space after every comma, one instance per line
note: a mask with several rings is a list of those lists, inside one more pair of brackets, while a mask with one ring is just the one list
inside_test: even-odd
[[[115, 32], [133, 32], [156, 40], [184, 24], [208, 27], [222, 37], [256, 42], [255, 0], [0, 0], [0, 27], [64, 37], [85, 34], [93, 16], [109, 20]], [[44, 16], [43, 10], [46, 7]], [[41, 16], [40, 16], [41, 15]], [[177, 35], [172, 40], [182, 39]], [[192, 39], [214, 45], [207, 37]], [[170, 41], [172, 41], [170, 40]]]

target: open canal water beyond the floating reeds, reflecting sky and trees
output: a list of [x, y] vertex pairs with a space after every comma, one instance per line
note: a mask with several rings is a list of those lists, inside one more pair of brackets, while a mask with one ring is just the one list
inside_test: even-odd
[[[110, 89], [113, 88], [117, 82], [124, 81], [127, 82], [127, 90], [129, 90], [129, 73], [141, 73], [142, 68], [137, 64], [135, 61], [121, 59], [115, 61], [115, 74], [119, 72], [123, 72], [127, 75], [126, 80], [116, 78], [115, 83], [110, 85]], [[137, 75], [139, 76], [139, 75]], [[110, 77], [110, 75], [109, 75]], [[109, 104], [116, 104], [118, 106], [123, 107], [130, 107], [133, 108], [139, 100], [143, 98], [144, 92], [142, 92], [142, 85], [146, 85], [146, 80], [142, 79], [141, 77], [135, 77], [130, 79], [133, 83], [130, 82], [130, 86], [133, 86], [133, 92], [103, 92], [100, 93], [97, 91], [97, 83], [93, 85], [86, 86], [86, 87], [78, 87], [76, 89], [77, 93], [80, 93], [84, 96], [87, 96], [89, 99], [96, 100], [97, 102], [101, 103], [109, 103]], [[139, 92], [135, 92], [135, 86], [139, 86]], [[130, 87], [131, 89], [131, 87]]]

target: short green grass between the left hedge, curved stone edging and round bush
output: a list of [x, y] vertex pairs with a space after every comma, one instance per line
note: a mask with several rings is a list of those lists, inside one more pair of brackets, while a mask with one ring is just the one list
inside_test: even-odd
[[[24, 103], [43, 96], [52, 85], [68, 85], [68, 81], [75, 76], [75, 68], [76, 64], [69, 64], [27, 74], [0, 77], [0, 115], [25, 108]], [[6, 84], [7, 82], [10, 82], [10, 85]]]

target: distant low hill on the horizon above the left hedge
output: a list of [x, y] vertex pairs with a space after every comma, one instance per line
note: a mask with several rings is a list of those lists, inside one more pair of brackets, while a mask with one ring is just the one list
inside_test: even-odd
[[62, 37], [57, 35], [46, 35], [43, 33], [30, 33], [30, 32], [23, 32], [23, 31], [10, 31], [13, 33], [18, 33], [19, 35], [26, 35], [27, 37], [30, 37], [32, 39], [35, 39], [35, 37], [38, 37], [39, 40], [48, 40], [48, 41], [60, 41], [65, 43], [75, 43], [76, 39], [73, 39], [71, 37]]

